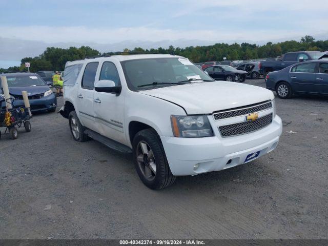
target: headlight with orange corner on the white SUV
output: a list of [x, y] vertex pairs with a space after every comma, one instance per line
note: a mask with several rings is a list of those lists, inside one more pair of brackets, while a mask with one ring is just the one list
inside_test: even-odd
[[213, 136], [213, 131], [206, 115], [171, 115], [171, 126], [175, 137]]

